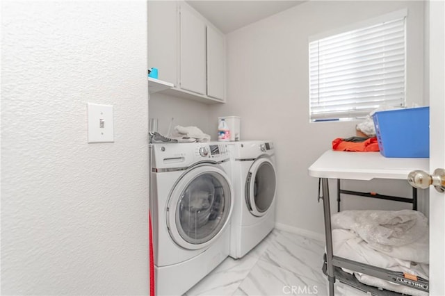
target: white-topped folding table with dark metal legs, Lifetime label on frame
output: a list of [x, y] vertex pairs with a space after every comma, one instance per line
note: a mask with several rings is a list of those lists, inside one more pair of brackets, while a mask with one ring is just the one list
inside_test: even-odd
[[[418, 279], [412, 281], [405, 279], [403, 273], [385, 270], [372, 265], [359, 263], [339, 256], [334, 256], [332, 251], [332, 227], [328, 179], [349, 179], [364, 180], [371, 179], [398, 179], [406, 180], [407, 175], [412, 170], [429, 171], [428, 158], [385, 158], [379, 152], [346, 152], [346, 151], [325, 151], [310, 167], [309, 176], [314, 176], [321, 180], [321, 192], [318, 192], [318, 200], [323, 199], [323, 213], [325, 220], [325, 274], [329, 281], [329, 295], [334, 295], [334, 283], [336, 277], [344, 283], [348, 283], [355, 288], [364, 289], [353, 276], [341, 272], [341, 268], [354, 270], [369, 274], [373, 277], [385, 279], [394, 283], [400, 283], [411, 288], [416, 288], [428, 292], [429, 283], [426, 280]], [[320, 190], [320, 188], [318, 188]], [[373, 295], [394, 295], [377, 288], [367, 288], [366, 292]]]

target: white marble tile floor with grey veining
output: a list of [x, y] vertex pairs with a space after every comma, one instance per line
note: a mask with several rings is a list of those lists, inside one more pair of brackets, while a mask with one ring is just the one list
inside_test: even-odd
[[[183, 296], [327, 295], [324, 242], [274, 229], [243, 258], [226, 258]], [[366, 295], [336, 283], [335, 295]]]

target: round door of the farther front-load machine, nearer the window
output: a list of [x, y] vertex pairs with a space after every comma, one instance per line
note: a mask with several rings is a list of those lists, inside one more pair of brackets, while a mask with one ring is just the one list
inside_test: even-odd
[[248, 172], [245, 182], [245, 202], [250, 213], [265, 215], [275, 198], [275, 168], [269, 158], [258, 158]]

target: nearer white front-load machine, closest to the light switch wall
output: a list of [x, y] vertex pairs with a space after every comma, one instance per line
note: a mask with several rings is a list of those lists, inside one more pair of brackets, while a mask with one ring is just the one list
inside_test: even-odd
[[149, 145], [156, 295], [182, 295], [229, 255], [227, 145]]

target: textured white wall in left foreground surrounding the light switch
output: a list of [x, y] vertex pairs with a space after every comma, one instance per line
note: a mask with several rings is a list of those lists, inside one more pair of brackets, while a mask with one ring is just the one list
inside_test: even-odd
[[1, 2], [3, 295], [148, 294], [146, 6]]

